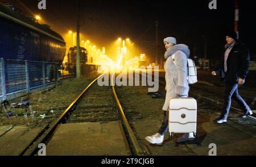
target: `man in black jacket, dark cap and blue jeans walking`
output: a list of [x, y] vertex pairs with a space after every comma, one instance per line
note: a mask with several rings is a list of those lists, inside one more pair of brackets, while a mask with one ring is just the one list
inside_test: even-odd
[[250, 107], [238, 94], [238, 85], [245, 83], [245, 78], [249, 72], [250, 54], [245, 44], [237, 39], [236, 32], [228, 32], [226, 34], [225, 54], [223, 57], [221, 68], [212, 72], [221, 73], [221, 78], [226, 81], [224, 109], [220, 118], [216, 119], [217, 124], [225, 123], [228, 119], [231, 106], [231, 98], [234, 98], [243, 108], [245, 113], [242, 115], [245, 118], [247, 115], [253, 114]]

